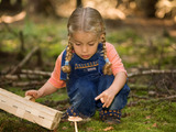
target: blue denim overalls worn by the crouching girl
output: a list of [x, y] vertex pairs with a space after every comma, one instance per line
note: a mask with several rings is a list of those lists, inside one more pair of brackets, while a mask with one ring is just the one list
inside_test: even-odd
[[[63, 54], [62, 66], [65, 64], [66, 51]], [[98, 45], [97, 53], [89, 59], [82, 59], [75, 53], [69, 62], [72, 72], [69, 75], [61, 72], [61, 79], [66, 80], [68, 97], [72, 107], [79, 113], [91, 117], [97, 108], [102, 109], [100, 100], [95, 98], [108, 89], [113, 79], [113, 75], [103, 75], [102, 67], [106, 64], [102, 53], [102, 44]], [[68, 78], [68, 79], [67, 79]], [[108, 110], [120, 110], [128, 101], [130, 88], [125, 84], [120, 92], [114, 97]]]

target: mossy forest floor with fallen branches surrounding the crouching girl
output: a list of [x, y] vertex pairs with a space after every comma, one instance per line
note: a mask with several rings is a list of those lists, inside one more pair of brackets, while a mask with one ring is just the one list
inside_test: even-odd
[[[21, 69], [52, 73], [55, 59], [67, 44], [67, 19], [45, 16], [26, 18], [13, 24], [0, 26], [0, 87], [24, 97], [28, 89], [38, 89], [48, 75], [22, 78]], [[78, 123], [79, 132], [175, 132], [176, 130], [176, 26], [170, 20], [130, 18], [125, 21], [106, 20], [107, 41], [112, 43], [129, 73], [131, 92], [122, 111], [120, 124], [106, 124], [98, 111], [89, 122]], [[22, 35], [19, 35], [20, 32]], [[24, 44], [23, 52], [22, 44]], [[38, 46], [13, 77], [8, 78], [20, 62]], [[40, 52], [38, 52], [40, 51]], [[157, 69], [154, 73], [151, 69]], [[148, 72], [148, 74], [144, 74]], [[138, 73], [138, 75], [134, 75]], [[33, 82], [33, 80], [36, 80]], [[29, 82], [23, 84], [23, 82]], [[68, 101], [66, 89], [37, 99], [36, 102], [65, 111]], [[0, 132], [48, 132], [37, 124], [0, 110]], [[74, 131], [70, 122], [61, 122], [58, 132]]]

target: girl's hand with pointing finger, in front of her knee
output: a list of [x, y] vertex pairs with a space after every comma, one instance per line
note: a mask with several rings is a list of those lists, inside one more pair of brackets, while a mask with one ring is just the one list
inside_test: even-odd
[[110, 88], [108, 88], [107, 90], [105, 90], [102, 94], [100, 94], [99, 96], [97, 96], [95, 98], [95, 100], [101, 100], [101, 102], [103, 103], [103, 108], [109, 108], [110, 105], [112, 103], [113, 99], [114, 99], [114, 91], [111, 90]]

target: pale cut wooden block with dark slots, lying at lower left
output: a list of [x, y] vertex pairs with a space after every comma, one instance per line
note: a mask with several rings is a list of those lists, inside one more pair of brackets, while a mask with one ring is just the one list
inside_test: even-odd
[[41, 127], [54, 130], [58, 127], [63, 112], [30, 101], [0, 88], [0, 109]]

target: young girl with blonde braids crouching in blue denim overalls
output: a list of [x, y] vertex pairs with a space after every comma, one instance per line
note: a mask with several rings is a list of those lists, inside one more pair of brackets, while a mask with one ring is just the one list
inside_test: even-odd
[[66, 87], [72, 107], [65, 118], [89, 118], [98, 109], [102, 121], [119, 123], [130, 88], [121, 58], [113, 45], [106, 42], [101, 14], [92, 8], [77, 8], [67, 29], [68, 45], [58, 56], [51, 78], [25, 96], [36, 99]]

